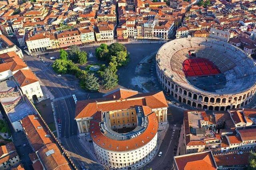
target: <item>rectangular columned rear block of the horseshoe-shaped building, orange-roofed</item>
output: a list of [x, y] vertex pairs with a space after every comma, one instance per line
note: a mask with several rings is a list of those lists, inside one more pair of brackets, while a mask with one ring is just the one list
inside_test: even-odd
[[[137, 103], [136, 103], [137, 102]], [[88, 133], [90, 121], [100, 111], [108, 111], [112, 128], [136, 127], [136, 107], [144, 106], [156, 113], [159, 123], [167, 121], [168, 104], [163, 92], [143, 93], [117, 89], [103, 98], [78, 101], [76, 104], [76, 123], [79, 133]]]

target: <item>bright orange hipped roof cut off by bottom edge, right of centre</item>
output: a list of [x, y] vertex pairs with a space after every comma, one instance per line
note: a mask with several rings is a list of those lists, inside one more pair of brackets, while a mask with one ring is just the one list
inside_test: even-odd
[[178, 170], [217, 170], [212, 152], [174, 156]]

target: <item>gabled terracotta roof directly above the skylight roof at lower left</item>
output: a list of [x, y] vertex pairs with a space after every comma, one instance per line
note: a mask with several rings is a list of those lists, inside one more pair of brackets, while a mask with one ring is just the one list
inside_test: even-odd
[[28, 115], [21, 120], [22, 127], [28, 137], [34, 151], [39, 150], [41, 147], [48, 143], [52, 143], [52, 138], [46, 135], [47, 130], [44, 128], [43, 123], [36, 115]]

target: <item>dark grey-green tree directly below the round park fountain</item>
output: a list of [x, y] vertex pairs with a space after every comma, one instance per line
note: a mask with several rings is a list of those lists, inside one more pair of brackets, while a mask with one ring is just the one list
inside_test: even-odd
[[98, 83], [98, 78], [94, 76], [94, 74], [87, 74], [82, 76], [80, 85], [82, 88], [96, 92], [100, 89], [100, 84]]

